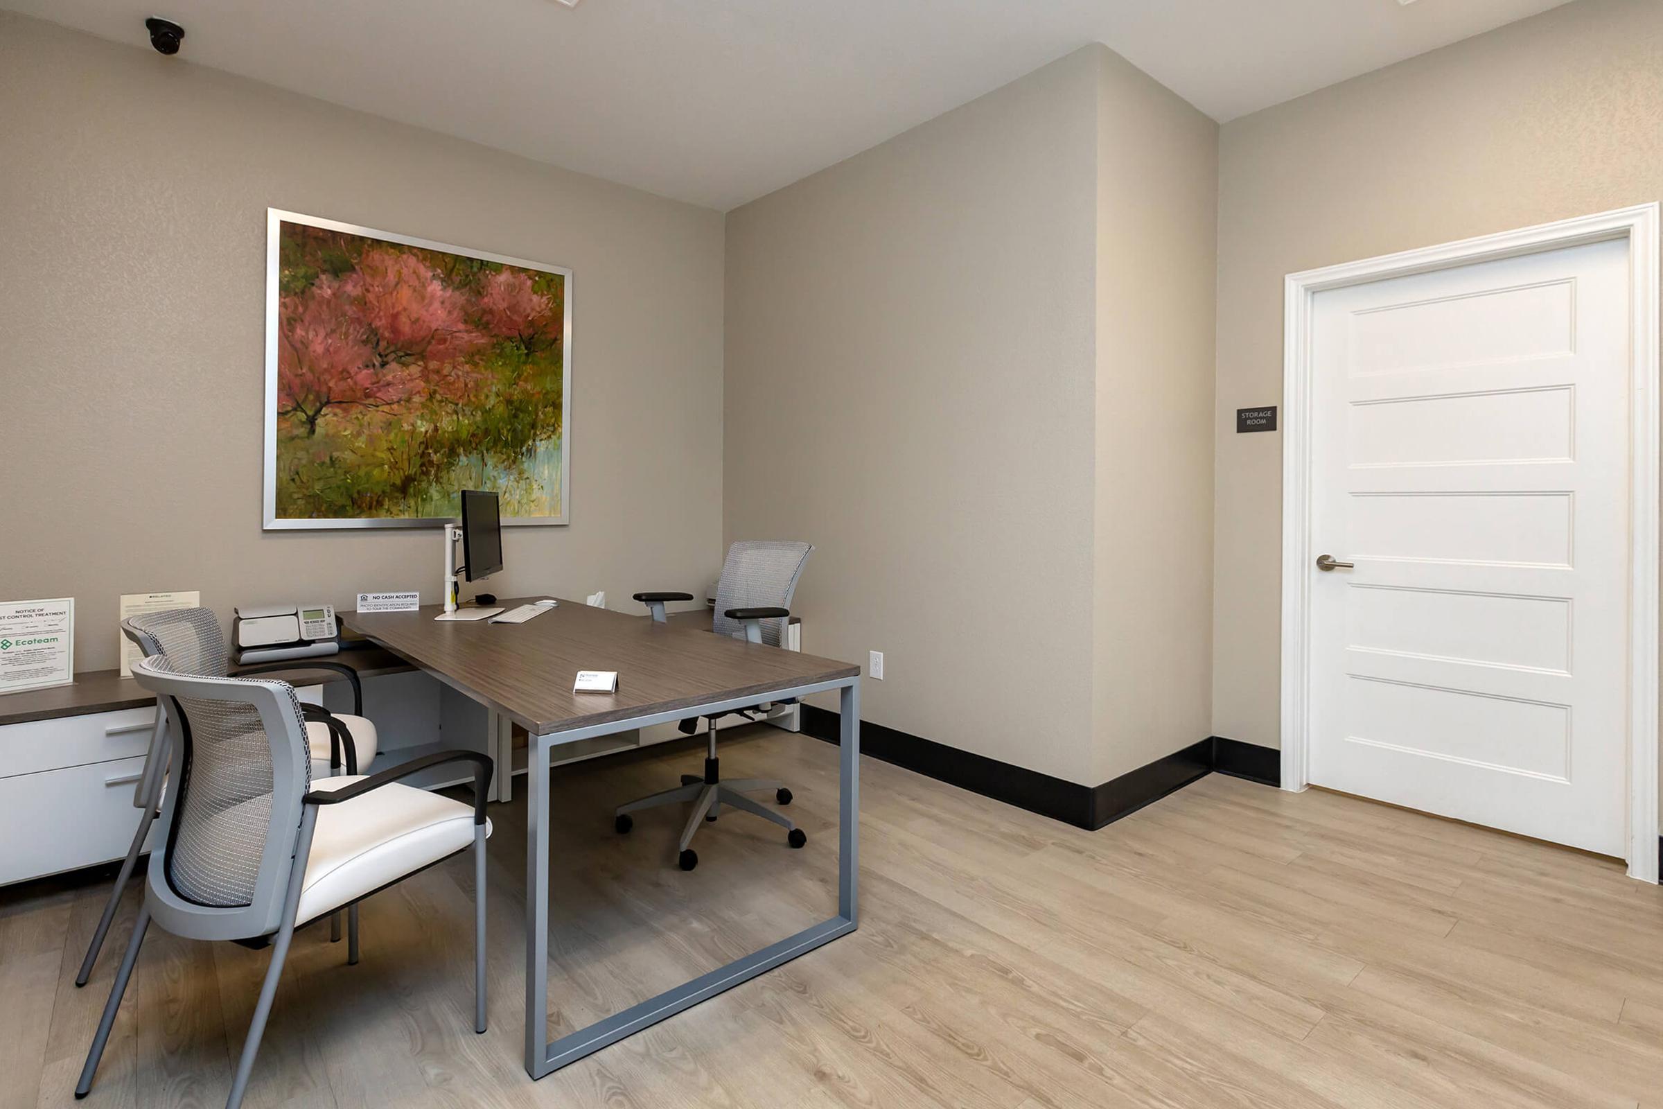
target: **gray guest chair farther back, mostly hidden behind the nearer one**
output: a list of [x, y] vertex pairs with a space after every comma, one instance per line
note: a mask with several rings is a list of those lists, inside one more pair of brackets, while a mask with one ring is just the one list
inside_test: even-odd
[[[150, 612], [121, 620], [121, 633], [126, 635], [126, 638], [130, 638], [146, 658], [166, 655], [173, 660], [173, 665], [183, 668], [185, 672], [201, 673], [206, 677], [225, 677], [229, 673], [231, 662], [225, 650], [225, 637], [220, 633], [220, 617], [213, 614], [213, 609], [173, 609], [170, 612]], [[336, 715], [321, 705], [301, 705], [301, 710], [306, 713], [306, 742], [311, 748], [314, 763], [321, 766], [328, 762], [333, 771], [346, 770], [346, 773], [356, 775], [359, 763], [368, 766], [376, 757], [376, 725], [364, 717], [364, 687], [359, 683], [356, 670], [338, 662], [308, 658], [299, 663], [271, 662], [264, 665], [238, 667], [238, 675], [294, 673], [298, 670], [338, 670], [353, 683], [351, 713]], [[86, 984], [86, 979], [91, 978], [93, 964], [98, 963], [98, 951], [103, 948], [105, 936], [110, 933], [110, 921], [115, 919], [115, 913], [121, 906], [121, 893], [126, 890], [128, 878], [133, 876], [138, 856], [145, 850], [145, 836], [150, 833], [151, 823], [155, 823], [156, 815], [161, 811], [161, 795], [166, 775], [166, 713], [163, 713], [158, 705], [156, 728], [150, 735], [150, 748], [145, 752], [145, 766], [140, 773], [138, 786], [133, 790], [133, 806], [141, 811], [138, 818], [138, 831], [133, 833], [133, 843], [126, 850], [126, 858], [121, 860], [121, 870], [115, 878], [115, 890], [110, 891], [110, 900], [105, 903], [103, 916], [98, 918], [98, 928], [93, 931], [93, 939], [86, 946], [86, 958], [81, 959], [81, 969], [75, 974], [76, 986]], [[331, 939], [341, 938], [339, 919], [333, 919], [329, 929]], [[354, 938], [354, 949], [356, 943], [358, 941]]]

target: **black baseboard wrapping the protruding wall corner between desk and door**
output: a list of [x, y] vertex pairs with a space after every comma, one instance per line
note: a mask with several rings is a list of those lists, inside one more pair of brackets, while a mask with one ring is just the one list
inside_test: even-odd
[[[803, 705], [803, 732], [836, 743], [836, 713]], [[936, 781], [1091, 830], [1136, 813], [1144, 805], [1159, 801], [1214, 770], [1264, 785], [1279, 785], [1282, 780], [1281, 752], [1216, 735], [1099, 786], [1053, 778], [1038, 770], [1014, 766], [986, 755], [971, 755], [866, 720], [860, 723], [860, 750], [863, 755], [915, 770]]]

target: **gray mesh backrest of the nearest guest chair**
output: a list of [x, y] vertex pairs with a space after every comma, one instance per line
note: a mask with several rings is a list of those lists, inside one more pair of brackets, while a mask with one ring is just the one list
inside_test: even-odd
[[294, 690], [191, 673], [171, 655], [135, 663], [133, 677], [168, 705], [175, 737], [163, 843], [150, 866], [156, 919], [195, 939], [269, 934], [281, 923], [311, 788]]

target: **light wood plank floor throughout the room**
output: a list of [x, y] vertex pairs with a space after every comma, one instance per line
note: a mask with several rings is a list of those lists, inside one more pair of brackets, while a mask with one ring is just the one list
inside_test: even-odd
[[[758, 730], [810, 835], [725, 815], [672, 861], [610, 806], [702, 752], [557, 771], [550, 1029], [830, 914], [836, 750]], [[1663, 1109], [1663, 895], [1603, 860], [1211, 776], [1088, 833], [866, 760], [861, 926], [532, 1084], [524, 790], [494, 810], [491, 1031], [466, 861], [303, 933], [248, 1106], [1577, 1106]], [[0, 1107], [68, 1106], [136, 895], [86, 989], [103, 878], [0, 890]], [[91, 1107], [218, 1106], [266, 953], [151, 929]]]

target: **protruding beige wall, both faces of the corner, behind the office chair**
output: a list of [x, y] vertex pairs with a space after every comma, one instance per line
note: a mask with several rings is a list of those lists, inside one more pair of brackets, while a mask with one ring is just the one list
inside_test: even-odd
[[1083, 785], [1207, 735], [1216, 131], [1091, 45], [728, 214], [727, 537], [817, 544], [865, 718]]

